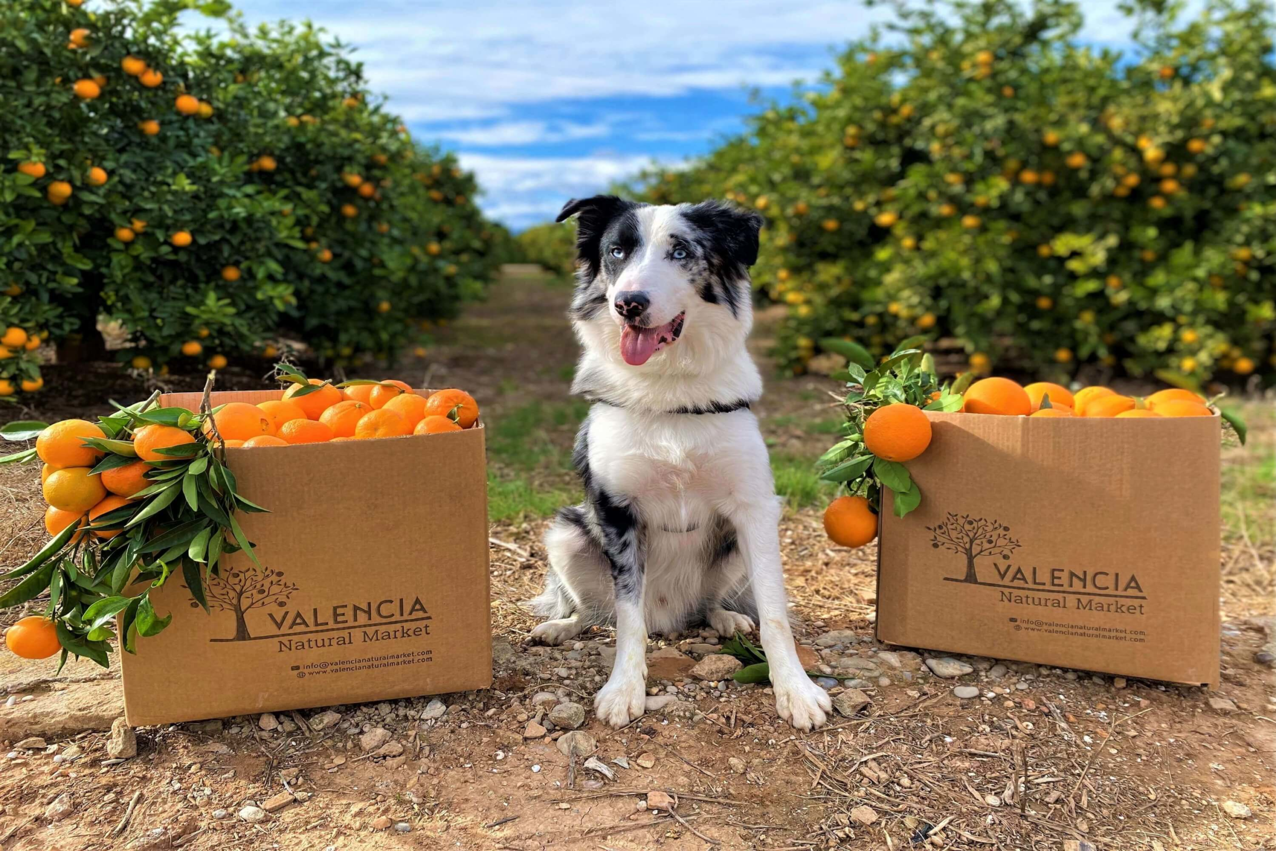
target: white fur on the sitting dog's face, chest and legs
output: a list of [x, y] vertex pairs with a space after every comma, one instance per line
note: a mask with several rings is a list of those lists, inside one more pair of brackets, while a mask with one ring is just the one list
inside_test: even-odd
[[[644, 711], [648, 632], [683, 629], [698, 610], [721, 635], [752, 632], [748, 615], [722, 605], [752, 591], [776, 708], [799, 730], [818, 727], [831, 702], [798, 660], [780, 561], [780, 501], [757, 417], [748, 408], [662, 413], [688, 399], [731, 402], [760, 394], [762, 378], [745, 348], [753, 324], [746, 281], [735, 314], [703, 300], [685, 269], [669, 259], [671, 236], [686, 226], [680, 209], [643, 207], [637, 216], [643, 241], [623, 273], [607, 282], [606, 309], [574, 325], [583, 346], [578, 384], [605, 385], [615, 403], [590, 412], [588, 471], [642, 518], [641, 591], [618, 602], [607, 561], [600, 563], [590, 536], [570, 523], [555, 523], [545, 541], [550, 568], [561, 583], [558, 591], [574, 605], [570, 614], [536, 626], [532, 638], [556, 644], [614, 615], [615, 665], [595, 709], [621, 727]], [[652, 325], [685, 311], [676, 342], [641, 366], [621, 357], [623, 320], [611, 309], [627, 290], [648, 293]], [[703, 552], [722, 519], [734, 527], [739, 547], [707, 572]], [[550, 593], [546, 588], [537, 601], [541, 610], [551, 607], [545, 600]]]

